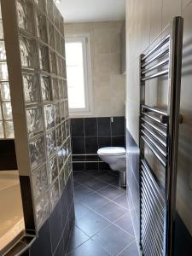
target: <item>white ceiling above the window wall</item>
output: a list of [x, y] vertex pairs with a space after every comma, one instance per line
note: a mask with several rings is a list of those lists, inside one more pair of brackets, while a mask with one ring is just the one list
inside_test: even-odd
[[123, 20], [125, 0], [61, 0], [57, 4], [66, 22]]

